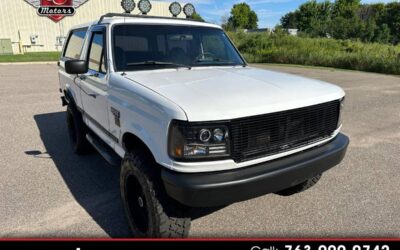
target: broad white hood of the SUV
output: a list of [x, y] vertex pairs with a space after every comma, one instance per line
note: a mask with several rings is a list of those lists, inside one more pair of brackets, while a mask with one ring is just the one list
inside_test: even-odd
[[342, 98], [335, 85], [252, 67], [129, 72], [126, 78], [179, 105], [189, 121], [229, 120]]

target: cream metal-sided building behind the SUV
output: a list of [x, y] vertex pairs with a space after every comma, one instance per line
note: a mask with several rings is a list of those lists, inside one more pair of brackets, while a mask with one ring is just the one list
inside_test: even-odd
[[[138, 1], [135, 2], [137, 4]], [[151, 3], [153, 7], [148, 15], [172, 16], [169, 12], [170, 3]], [[76, 10], [74, 16], [66, 16], [57, 23], [38, 16], [36, 9], [24, 0], [1, 0], [0, 54], [61, 51], [72, 26], [97, 20], [109, 12], [123, 13], [121, 0], [89, 0]], [[138, 8], [132, 14], [139, 14]], [[184, 14], [179, 17], [184, 17]]]

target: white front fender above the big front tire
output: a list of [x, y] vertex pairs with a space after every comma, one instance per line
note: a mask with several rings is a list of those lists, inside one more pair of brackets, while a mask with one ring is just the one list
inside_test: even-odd
[[165, 97], [120, 74], [111, 74], [109, 83], [110, 132], [120, 141], [115, 145], [117, 154], [124, 155], [122, 139], [131, 133], [146, 144], [158, 163], [173, 169], [167, 153], [169, 124], [172, 119], [187, 120], [186, 114]]

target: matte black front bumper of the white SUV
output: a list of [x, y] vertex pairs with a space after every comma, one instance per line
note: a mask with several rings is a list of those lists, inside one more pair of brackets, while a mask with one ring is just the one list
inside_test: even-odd
[[191, 207], [213, 207], [248, 200], [297, 185], [339, 164], [349, 138], [270, 162], [223, 172], [186, 174], [162, 170], [169, 196]]

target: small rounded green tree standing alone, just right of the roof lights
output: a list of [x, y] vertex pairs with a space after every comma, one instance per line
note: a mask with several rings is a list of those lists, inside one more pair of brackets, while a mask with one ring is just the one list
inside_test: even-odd
[[233, 29], [256, 29], [258, 16], [247, 3], [235, 4], [226, 27]]

